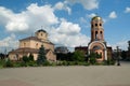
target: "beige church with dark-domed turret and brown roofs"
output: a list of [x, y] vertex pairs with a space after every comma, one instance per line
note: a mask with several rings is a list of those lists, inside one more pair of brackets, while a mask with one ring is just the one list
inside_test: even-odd
[[48, 33], [46, 30], [40, 29], [35, 33], [35, 37], [27, 37], [20, 40], [20, 46], [17, 49], [9, 53], [11, 60], [21, 60], [23, 56], [34, 55], [34, 59], [37, 60], [39, 48], [43, 45], [46, 49], [46, 57], [49, 61], [56, 61], [56, 55], [54, 53], [54, 44], [48, 40]]

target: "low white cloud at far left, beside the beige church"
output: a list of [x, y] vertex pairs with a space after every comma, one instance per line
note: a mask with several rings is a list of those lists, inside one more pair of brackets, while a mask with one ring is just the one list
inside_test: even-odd
[[[10, 37], [6, 37], [0, 41], [0, 48], [4, 48], [8, 52], [18, 47], [18, 41], [16, 40], [15, 34], [11, 34]], [[0, 49], [0, 52], [3, 52]]]

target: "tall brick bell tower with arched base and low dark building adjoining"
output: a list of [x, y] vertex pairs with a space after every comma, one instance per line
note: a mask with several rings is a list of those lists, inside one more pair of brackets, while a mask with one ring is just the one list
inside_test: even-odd
[[104, 40], [103, 19], [100, 16], [94, 16], [91, 19], [91, 41], [88, 46], [77, 46], [75, 51], [83, 51], [86, 54], [98, 53], [101, 58], [98, 61], [107, 60], [112, 58], [112, 47], [107, 46]]

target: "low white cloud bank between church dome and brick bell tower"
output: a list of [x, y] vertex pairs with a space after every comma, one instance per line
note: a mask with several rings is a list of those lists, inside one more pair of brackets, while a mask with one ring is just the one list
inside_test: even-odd
[[66, 33], [56, 32], [51, 34], [50, 40], [57, 45], [65, 45], [68, 47], [75, 47], [79, 45], [88, 46], [88, 43], [90, 42], [90, 38], [81, 33], [77, 33], [76, 35], [68, 35]]

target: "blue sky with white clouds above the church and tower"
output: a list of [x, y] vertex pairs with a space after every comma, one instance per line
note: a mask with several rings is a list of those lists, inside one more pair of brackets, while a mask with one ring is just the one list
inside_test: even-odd
[[18, 47], [41, 26], [56, 46], [87, 46], [95, 15], [104, 20], [107, 44], [127, 49], [130, 0], [0, 0], [0, 52]]

